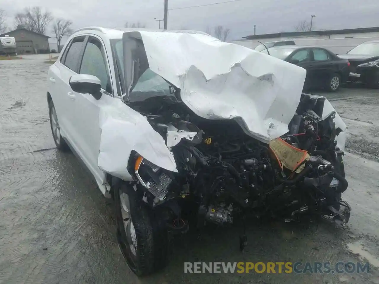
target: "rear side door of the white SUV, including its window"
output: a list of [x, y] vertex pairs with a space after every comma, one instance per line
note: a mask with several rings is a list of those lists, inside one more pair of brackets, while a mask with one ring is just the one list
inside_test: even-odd
[[63, 137], [76, 149], [75, 137], [78, 135], [75, 125], [75, 96], [69, 86], [69, 79], [77, 74], [79, 59], [84, 49], [85, 36], [74, 37], [63, 51], [59, 61], [49, 69], [49, 91], [52, 97], [60, 131]]

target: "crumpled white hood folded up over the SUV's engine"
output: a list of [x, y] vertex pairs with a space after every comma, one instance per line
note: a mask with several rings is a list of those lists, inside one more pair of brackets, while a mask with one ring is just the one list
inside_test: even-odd
[[[236, 119], [265, 143], [288, 132], [304, 85], [302, 67], [205, 34], [172, 31], [124, 33], [124, 58], [136, 54], [128, 50], [133, 39], [142, 40], [148, 68], [179, 87], [200, 117]], [[131, 79], [125, 80], [129, 86]]]

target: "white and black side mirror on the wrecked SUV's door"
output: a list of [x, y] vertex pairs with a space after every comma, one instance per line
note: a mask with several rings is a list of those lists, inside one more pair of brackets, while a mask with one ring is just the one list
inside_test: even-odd
[[71, 76], [69, 84], [72, 91], [80, 94], [91, 94], [96, 100], [101, 98], [101, 81], [99, 78], [88, 74], [78, 74]]

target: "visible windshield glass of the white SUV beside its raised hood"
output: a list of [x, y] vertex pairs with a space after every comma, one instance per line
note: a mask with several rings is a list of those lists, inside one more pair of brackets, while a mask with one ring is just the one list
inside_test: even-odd
[[[120, 80], [124, 78], [124, 55], [122, 51], [122, 40], [117, 40], [113, 43], [114, 51], [116, 53], [117, 66], [119, 67]], [[123, 92], [125, 92], [123, 90]], [[132, 92], [130, 92], [129, 101], [131, 103], [144, 101], [152, 97], [160, 96], [171, 96], [175, 98], [172, 94], [172, 88], [170, 91], [170, 84], [164, 80], [161, 76], [154, 73], [152, 70], [147, 69], [139, 77], [135, 87]]]

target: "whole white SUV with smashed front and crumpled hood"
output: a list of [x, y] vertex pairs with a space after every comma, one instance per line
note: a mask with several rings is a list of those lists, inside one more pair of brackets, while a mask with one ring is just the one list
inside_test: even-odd
[[326, 98], [302, 94], [305, 75], [195, 31], [70, 36], [48, 72], [53, 139], [114, 199], [134, 273], [163, 268], [168, 235], [189, 228], [240, 223], [243, 250], [249, 216], [348, 222], [346, 125]]

